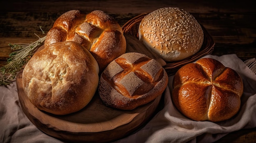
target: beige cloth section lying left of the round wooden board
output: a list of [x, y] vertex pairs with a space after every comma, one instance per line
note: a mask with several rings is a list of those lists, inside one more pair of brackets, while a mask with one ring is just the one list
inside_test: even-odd
[[62, 143], [41, 132], [20, 107], [16, 81], [0, 86], [0, 143]]

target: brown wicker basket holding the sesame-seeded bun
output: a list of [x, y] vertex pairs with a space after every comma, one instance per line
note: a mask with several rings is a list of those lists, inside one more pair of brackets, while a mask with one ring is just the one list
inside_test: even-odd
[[[148, 13], [142, 13], [122, 26], [122, 29], [124, 31], [124, 34], [135, 36], [137, 39], [139, 38], [138, 31], [139, 31], [139, 23], [141, 20], [146, 16]], [[201, 25], [201, 24], [200, 24]], [[196, 53], [195, 55], [192, 55], [190, 57], [187, 57], [186, 59], [176, 61], [176, 62], [166, 62], [166, 65], [163, 66], [168, 75], [174, 75], [176, 71], [184, 66], [185, 64], [195, 62], [196, 60], [200, 59], [201, 57], [205, 55], [209, 55], [213, 51], [213, 47], [215, 45], [215, 42], [213, 41], [213, 38], [211, 35], [207, 32], [207, 30], [202, 26], [202, 30], [204, 31], [204, 42], [202, 44], [202, 47], [200, 48], [200, 51]]]

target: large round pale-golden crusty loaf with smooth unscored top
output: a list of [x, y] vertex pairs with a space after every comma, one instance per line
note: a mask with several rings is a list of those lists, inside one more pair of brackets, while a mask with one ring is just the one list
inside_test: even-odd
[[25, 93], [40, 110], [64, 115], [85, 107], [97, 90], [99, 66], [76, 42], [57, 42], [31, 57], [22, 73]]

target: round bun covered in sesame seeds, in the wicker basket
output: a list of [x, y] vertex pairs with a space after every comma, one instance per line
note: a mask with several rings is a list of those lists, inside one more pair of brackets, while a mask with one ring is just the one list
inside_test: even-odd
[[204, 33], [193, 15], [177, 7], [148, 13], [139, 24], [139, 40], [165, 61], [178, 61], [197, 53]]

